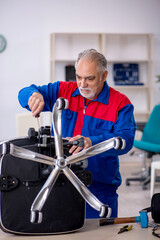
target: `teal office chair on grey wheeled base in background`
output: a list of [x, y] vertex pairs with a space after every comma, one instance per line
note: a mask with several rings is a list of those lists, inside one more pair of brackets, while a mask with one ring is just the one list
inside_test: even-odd
[[[143, 182], [143, 189], [147, 188], [150, 183], [151, 162], [155, 154], [160, 154], [160, 105], [156, 105], [143, 129], [141, 140], [134, 140], [133, 146], [142, 150], [142, 173], [137, 178], [127, 178], [126, 185], [129, 186], [131, 181]], [[150, 159], [150, 166], [146, 171], [146, 158]], [[156, 179], [159, 181], [159, 179]]]

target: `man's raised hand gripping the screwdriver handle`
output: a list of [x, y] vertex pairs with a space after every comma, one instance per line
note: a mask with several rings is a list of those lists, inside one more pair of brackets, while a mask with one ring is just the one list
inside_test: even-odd
[[28, 101], [29, 108], [31, 109], [32, 116], [40, 114], [44, 108], [45, 102], [42, 94], [34, 92]]

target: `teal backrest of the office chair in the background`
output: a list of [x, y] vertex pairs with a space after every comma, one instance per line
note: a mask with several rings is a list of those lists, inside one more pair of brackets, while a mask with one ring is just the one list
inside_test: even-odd
[[144, 127], [142, 140], [160, 144], [160, 105], [156, 105], [153, 108]]

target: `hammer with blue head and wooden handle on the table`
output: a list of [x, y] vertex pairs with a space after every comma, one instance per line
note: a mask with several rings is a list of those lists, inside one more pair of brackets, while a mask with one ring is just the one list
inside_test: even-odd
[[148, 227], [148, 216], [147, 211], [140, 211], [140, 216], [136, 217], [124, 217], [124, 218], [108, 218], [100, 219], [100, 226], [109, 225], [109, 224], [121, 224], [121, 223], [134, 223], [140, 222], [142, 228]]

